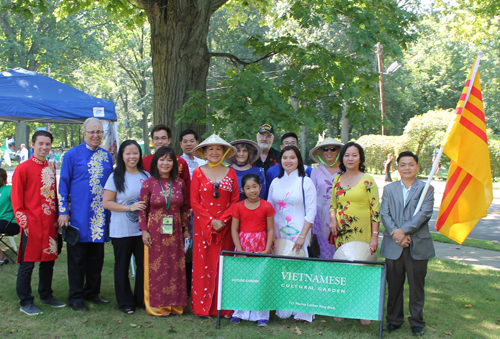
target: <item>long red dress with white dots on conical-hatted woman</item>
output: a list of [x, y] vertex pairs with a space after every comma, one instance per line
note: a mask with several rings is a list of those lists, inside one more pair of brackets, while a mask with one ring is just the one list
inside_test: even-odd
[[[213, 196], [214, 192], [214, 182], [205, 176], [200, 167], [196, 168], [191, 185], [191, 207], [194, 212], [191, 310], [196, 316], [217, 315], [219, 255], [222, 250], [234, 250], [231, 209], [240, 200], [240, 189], [232, 168], [219, 182], [217, 199]], [[212, 228], [212, 220], [221, 220], [227, 226], [217, 232]], [[222, 311], [221, 315], [231, 313]]]

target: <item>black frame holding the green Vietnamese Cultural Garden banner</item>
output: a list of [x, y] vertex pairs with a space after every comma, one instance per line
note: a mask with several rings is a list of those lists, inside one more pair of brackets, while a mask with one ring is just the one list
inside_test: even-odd
[[[383, 314], [384, 314], [384, 303], [385, 303], [385, 283], [386, 283], [386, 263], [385, 261], [349, 261], [349, 260], [334, 260], [334, 259], [319, 259], [319, 258], [301, 258], [301, 257], [288, 257], [283, 255], [271, 255], [271, 254], [256, 254], [256, 253], [245, 253], [245, 252], [233, 252], [233, 251], [221, 251], [219, 257], [219, 280], [218, 280], [218, 294], [217, 294], [217, 325], [216, 328], [220, 329], [220, 315], [222, 309], [222, 299], [224, 296], [224, 256], [227, 258], [233, 259], [234, 255], [242, 255], [245, 257], [264, 257], [264, 258], [272, 258], [272, 259], [285, 259], [291, 261], [313, 261], [313, 262], [331, 262], [337, 264], [347, 264], [347, 265], [369, 265], [369, 266], [382, 266], [381, 274], [380, 274], [380, 286], [378, 287], [380, 297], [378, 300], [378, 316], [377, 320], [380, 322], [379, 326], [379, 338], [382, 338], [383, 334]], [[229, 259], [228, 259], [229, 260]], [[228, 265], [229, 265], [228, 261]], [[228, 266], [230, 267], [230, 266]], [[312, 312], [311, 312], [312, 313]], [[321, 315], [321, 313], [318, 313]], [[325, 316], [330, 316], [326, 315]], [[346, 317], [349, 318], [349, 317]], [[373, 319], [373, 318], [372, 318]]]

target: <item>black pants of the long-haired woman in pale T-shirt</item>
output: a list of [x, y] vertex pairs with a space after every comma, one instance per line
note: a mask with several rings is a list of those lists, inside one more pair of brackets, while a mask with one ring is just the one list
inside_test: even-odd
[[[124, 311], [135, 310], [144, 305], [144, 243], [142, 235], [125, 238], [112, 238], [115, 253], [115, 295], [118, 307]], [[134, 293], [130, 287], [130, 258], [135, 257]]]

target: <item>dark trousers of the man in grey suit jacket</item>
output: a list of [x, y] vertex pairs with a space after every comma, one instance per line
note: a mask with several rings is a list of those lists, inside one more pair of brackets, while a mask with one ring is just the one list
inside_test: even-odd
[[402, 325], [404, 322], [403, 291], [405, 278], [408, 276], [410, 287], [410, 325], [425, 327], [425, 276], [429, 260], [415, 260], [411, 257], [410, 248], [406, 247], [397, 260], [386, 259], [387, 286], [387, 323]]

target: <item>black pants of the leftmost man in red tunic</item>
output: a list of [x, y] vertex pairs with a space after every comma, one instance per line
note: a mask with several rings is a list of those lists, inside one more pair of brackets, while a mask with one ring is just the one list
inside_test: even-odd
[[[33, 296], [31, 295], [31, 275], [35, 268], [34, 262], [25, 262], [24, 253], [26, 251], [26, 243], [28, 237], [22, 232], [21, 235], [21, 260], [19, 263], [19, 271], [17, 273], [16, 291], [19, 297], [21, 306], [33, 304]], [[54, 260], [40, 262], [38, 271], [38, 293], [40, 299], [47, 300], [52, 298], [52, 276], [54, 273]]]

